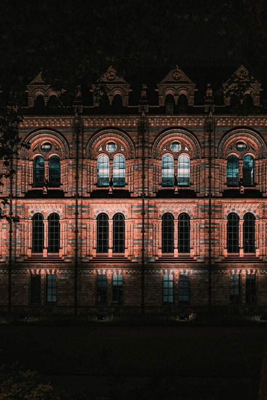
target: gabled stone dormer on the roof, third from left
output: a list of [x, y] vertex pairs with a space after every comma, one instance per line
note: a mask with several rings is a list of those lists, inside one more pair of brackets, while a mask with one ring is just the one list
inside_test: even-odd
[[194, 105], [195, 83], [186, 76], [179, 66], [172, 69], [158, 84], [158, 89], [160, 106], [164, 106], [167, 95], [172, 95], [174, 97], [175, 104], [177, 104], [180, 95], [186, 95], [188, 105]]

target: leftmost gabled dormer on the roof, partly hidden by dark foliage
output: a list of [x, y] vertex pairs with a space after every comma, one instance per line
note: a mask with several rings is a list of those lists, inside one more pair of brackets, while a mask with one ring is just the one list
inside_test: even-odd
[[27, 90], [29, 107], [34, 107], [36, 104], [40, 106], [39, 108], [42, 104], [45, 107], [51, 96], [58, 96], [58, 93], [51, 89], [50, 85], [43, 82], [41, 72], [27, 85]]

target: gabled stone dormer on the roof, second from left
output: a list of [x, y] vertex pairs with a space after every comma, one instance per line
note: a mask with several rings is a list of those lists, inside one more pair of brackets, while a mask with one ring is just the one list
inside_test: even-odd
[[[121, 104], [121, 106], [127, 107], [130, 83], [127, 83], [119, 76], [115, 68], [110, 66], [102, 77], [98, 79], [97, 85], [103, 85], [107, 88], [107, 93], [105, 95], [106, 101], [108, 102], [107, 106], [114, 105], [114, 108], [116, 108], [117, 105]], [[92, 85], [93, 90], [97, 85]], [[94, 106], [98, 107], [99, 105], [100, 103], [97, 97], [94, 96]]]

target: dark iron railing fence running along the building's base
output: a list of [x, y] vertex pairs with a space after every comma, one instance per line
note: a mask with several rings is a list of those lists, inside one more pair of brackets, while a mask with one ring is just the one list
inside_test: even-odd
[[267, 306], [0, 306], [0, 325], [250, 325], [266, 323]]

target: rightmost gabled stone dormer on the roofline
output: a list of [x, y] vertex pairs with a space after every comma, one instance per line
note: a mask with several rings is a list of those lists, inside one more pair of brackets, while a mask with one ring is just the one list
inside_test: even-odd
[[240, 67], [228, 79], [228, 81], [222, 84], [225, 93], [227, 93], [227, 96], [225, 96], [225, 105], [226, 106], [231, 105], [231, 98], [233, 98], [231, 94], [231, 89], [233, 89], [234, 93], [234, 89], [238, 85], [240, 86], [240, 88], [241, 87], [245, 88], [245, 92], [243, 94], [247, 95], [247, 97], [251, 97], [253, 105], [259, 106], [260, 91], [262, 90], [261, 83], [259, 83], [253, 76], [251, 76], [248, 69], [243, 65], [240, 65]]

